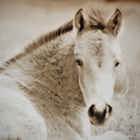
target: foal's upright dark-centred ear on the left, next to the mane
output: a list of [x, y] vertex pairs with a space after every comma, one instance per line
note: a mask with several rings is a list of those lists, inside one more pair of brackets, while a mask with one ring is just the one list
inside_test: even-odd
[[78, 32], [81, 32], [89, 24], [88, 16], [84, 13], [83, 9], [79, 9], [75, 15], [74, 26]]

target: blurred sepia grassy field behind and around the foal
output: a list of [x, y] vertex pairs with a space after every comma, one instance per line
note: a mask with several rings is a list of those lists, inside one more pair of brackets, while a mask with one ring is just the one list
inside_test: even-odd
[[74, 18], [79, 8], [92, 6], [113, 14], [119, 8], [124, 22], [113, 100], [114, 113], [105, 126], [92, 128], [99, 135], [115, 130], [140, 140], [140, 1], [139, 0], [0, 0], [0, 63], [25, 44]]

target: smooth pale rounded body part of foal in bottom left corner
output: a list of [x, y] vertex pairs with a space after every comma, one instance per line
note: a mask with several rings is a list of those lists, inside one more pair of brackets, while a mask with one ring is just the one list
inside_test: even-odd
[[43, 118], [30, 101], [13, 90], [0, 87], [0, 140], [46, 140]]

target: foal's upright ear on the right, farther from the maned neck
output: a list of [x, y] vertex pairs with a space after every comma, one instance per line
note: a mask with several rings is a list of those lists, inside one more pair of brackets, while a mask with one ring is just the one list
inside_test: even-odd
[[117, 35], [122, 23], [122, 14], [119, 9], [109, 19], [109, 28], [114, 35]]

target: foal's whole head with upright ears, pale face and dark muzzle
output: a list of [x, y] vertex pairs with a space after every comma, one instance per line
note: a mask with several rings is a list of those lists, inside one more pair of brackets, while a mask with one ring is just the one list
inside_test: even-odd
[[104, 124], [112, 114], [115, 73], [121, 54], [121, 22], [122, 14], [118, 9], [109, 19], [98, 12], [87, 15], [80, 9], [73, 20], [79, 86], [94, 125]]

